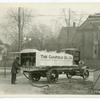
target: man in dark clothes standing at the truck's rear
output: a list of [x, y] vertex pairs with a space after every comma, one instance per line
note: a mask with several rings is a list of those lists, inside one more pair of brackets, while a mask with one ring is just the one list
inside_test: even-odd
[[12, 64], [12, 69], [11, 69], [11, 84], [15, 84], [16, 81], [16, 74], [17, 71], [19, 70], [19, 57], [16, 57]]

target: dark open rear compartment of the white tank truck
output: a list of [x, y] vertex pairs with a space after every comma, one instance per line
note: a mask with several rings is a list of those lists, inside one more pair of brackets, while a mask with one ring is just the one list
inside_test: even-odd
[[21, 65], [22, 66], [34, 66], [36, 62], [36, 53], [22, 53]]

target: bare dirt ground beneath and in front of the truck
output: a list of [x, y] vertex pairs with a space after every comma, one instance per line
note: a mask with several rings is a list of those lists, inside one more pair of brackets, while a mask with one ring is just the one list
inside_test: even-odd
[[22, 74], [17, 75], [17, 84], [11, 85], [10, 74], [0, 75], [0, 95], [56, 95], [56, 94], [91, 94], [90, 88], [93, 84], [93, 74], [90, 73], [88, 80], [83, 80], [79, 76], [73, 77], [71, 80], [66, 75], [61, 75], [58, 82], [48, 84], [46, 78], [42, 78], [39, 82], [33, 84], [37, 86], [49, 85], [49, 87], [35, 87]]

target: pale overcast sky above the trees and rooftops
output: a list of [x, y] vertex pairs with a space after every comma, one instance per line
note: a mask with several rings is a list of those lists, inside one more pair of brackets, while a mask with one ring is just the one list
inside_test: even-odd
[[[98, 4], [96, 5], [91, 4], [89, 6], [87, 4], [84, 6], [83, 5], [81, 6], [79, 4], [77, 5], [73, 4], [73, 5], [76, 5], [75, 7], [73, 5], [65, 5], [65, 4], [59, 4], [59, 5], [52, 4], [51, 6], [50, 5], [47, 6], [47, 5], [48, 4], [43, 4], [39, 6], [38, 4], [38, 6], [31, 5], [31, 7], [29, 6], [23, 6], [23, 7], [25, 9], [29, 9], [32, 11], [32, 16], [34, 16], [33, 18], [34, 24], [47, 25], [48, 27], [51, 28], [55, 36], [59, 34], [59, 32], [58, 33], [55, 32], [57, 28], [66, 26], [63, 9], [65, 11], [66, 19], [68, 19], [69, 8], [70, 8], [71, 25], [72, 25], [72, 22], [76, 22], [76, 24], [79, 23], [80, 17], [82, 17], [81, 23], [83, 23], [88, 17], [88, 15], [100, 13], [100, 8], [97, 7]], [[7, 13], [9, 12], [10, 9], [15, 9], [15, 8], [17, 8], [16, 5], [14, 6], [1, 5], [0, 25], [7, 23]], [[5, 43], [8, 42], [7, 39], [5, 39], [5, 37], [3, 36], [2, 28], [0, 29], [0, 38], [3, 40], [3, 42]]]

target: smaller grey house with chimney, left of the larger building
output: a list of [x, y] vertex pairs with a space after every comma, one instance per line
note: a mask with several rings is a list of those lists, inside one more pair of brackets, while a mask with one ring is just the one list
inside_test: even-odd
[[58, 36], [59, 49], [75, 47], [75, 36], [77, 27], [62, 27]]

